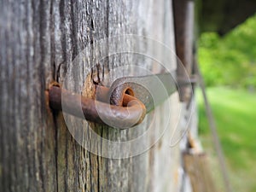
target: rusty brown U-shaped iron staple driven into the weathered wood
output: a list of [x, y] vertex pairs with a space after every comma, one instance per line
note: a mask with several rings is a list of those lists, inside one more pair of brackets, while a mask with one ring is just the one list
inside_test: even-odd
[[[134, 96], [123, 94], [123, 106], [109, 105], [109, 89], [96, 85], [96, 100], [74, 94], [58, 86], [51, 86], [49, 106], [56, 110], [63, 110], [76, 117], [87, 119], [102, 125], [111, 125], [116, 128], [126, 129], [140, 124], [146, 114], [143, 102]], [[82, 113], [81, 113], [82, 110]]]

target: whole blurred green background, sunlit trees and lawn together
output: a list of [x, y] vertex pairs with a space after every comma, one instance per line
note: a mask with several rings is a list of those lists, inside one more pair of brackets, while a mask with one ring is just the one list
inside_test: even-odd
[[[224, 149], [231, 185], [237, 192], [254, 192], [256, 92], [231, 88], [256, 90], [256, 15], [224, 37], [219, 37], [216, 32], [202, 33], [198, 43], [198, 58], [208, 86], [207, 96]], [[196, 98], [199, 103], [201, 142], [210, 156], [218, 191], [224, 191], [203, 99], [200, 94]]]

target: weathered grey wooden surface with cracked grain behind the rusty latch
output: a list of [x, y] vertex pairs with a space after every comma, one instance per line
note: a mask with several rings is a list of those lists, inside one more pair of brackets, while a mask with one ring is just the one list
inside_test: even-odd
[[[122, 131], [52, 110], [45, 95], [53, 82], [93, 97], [94, 84], [160, 73], [162, 65], [174, 70], [170, 0], [1, 0], [0, 42], [1, 191], [177, 191], [179, 148], [170, 147], [177, 94], [171, 108], [155, 108], [139, 128]], [[98, 143], [89, 130], [120, 146]], [[136, 153], [122, 145], [132, 139]]]

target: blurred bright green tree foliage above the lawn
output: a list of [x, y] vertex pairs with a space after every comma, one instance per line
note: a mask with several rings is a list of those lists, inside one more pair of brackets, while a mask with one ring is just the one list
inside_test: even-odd
[[207, 86], [256, 88], [256, 15], [224, 37], [216, 32], [202, 33], [198, 45]]

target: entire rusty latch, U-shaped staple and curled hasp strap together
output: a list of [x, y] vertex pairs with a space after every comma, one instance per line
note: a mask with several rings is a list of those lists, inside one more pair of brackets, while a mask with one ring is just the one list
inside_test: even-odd
[[[126, 129], [140, 124], [146, 113], [177, 91], [177, 86], [191, 84], [194, 81], [195, 79], [191, 78], [175, 78], [175, 72], [160, 73], [119, 78], [110, 88], [96, 85], [96, 100], [57, 86], [51, 86], [47, 94], [51, 108], [103, 125]], [[154, 98], [147, 88], [153, 90]], [[166, 95], [162, 94], [163, 90], [166, 91]]]

